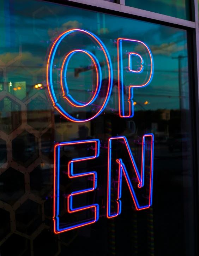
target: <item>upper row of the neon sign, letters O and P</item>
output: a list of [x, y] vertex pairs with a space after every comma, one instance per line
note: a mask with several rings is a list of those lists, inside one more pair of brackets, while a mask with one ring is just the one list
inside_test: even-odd
[[[107, 70], [108, 70], [108, 83], [105, 88], [105, 95], [103, 102], [101, 106], [98, 107], [98, 110], [96, 113], [94, 113], [90, 118], [88, 119], [79, 119], [78, 117], [72, 116], [70, 113], [66, 111], [65, 106], [59, 102], [57, 99], [55, 90], [54, 90], [54, 84], [53, 84], [53, 78], [52, 78], [52, 72], [53, 72], [53, 61], [55, 58], [56, 51], [61, 44], [61, 41], [64, 40], [68, 35], [70, 34], [83, 34], [84, 36], [88, 37], [89, 40], [95, 41], [98, 48], [101, 52], [104, 54], [104, 59], [106, 62]], [[125, 45], [128, 44], [128, 48], [131, 50], [128, 52], [124, 52]], [[81, 53], [86, 55], [90, 60], [92, 61], [92, 64], [94, 65], [95, 71], [96, 71], [96, 87], [95, 91], [91, 97], [91, 99], [86, 102], [82, 103], [74, 99], [72, 95], [70, 94], [70, 90], [67, 83], [67, 67], [70, 59], [74, 54]], [[123, 65], [123, 55], [128, 55], [128, 66], [124, 67]], [[133, 60], [136, 59], [137, 65], [134, 68], [132, 65]], [[125, 93], [124, 93], [124, 69], [127, 69], [128, 72], [132, 75], [132, 83], [128, 85], [127, 88], [127, 99], [125, 100]], [[140, 74], [145, 71], [144, 73], [144, 79], [142, 81], [137, 81], [135, 79], [135, 75]], [[65, 118], [67, 118], [70, 121], [73, 122], [86, 122], [90, 121], [94, 118], [96, 118], [99, 114], [104, 111], [105, 107], [107, 106], [107, 103], [110, 99], [111, 91], [113, 88], [113, 67], [111, 63], [111, 58], [109, 55], [109, 52], [107, 48], [105, 47], [102, 40], [97, 37], [92, 32], [89, 32], [87, 30], [83, 29], [71, 29], [67, 30], [64, 33], [62, 33], [53, 43], [52, 48], [50, 49], [48, 62], [47, 62], [47, 87], [48, 92], [50, 95], [50, 99], [53, 102], [53, 106], [55, 109], [59, 111], [61, 115], [63, 115]], [[128, 38], [118, 38], [117, 39], [117, 76], [118, 76], [118, 104], [119, 104], [119, 115], [121, 118], [130, 118], [133, 117], [134, 114], [134, 106], [133, 106], [133, 88], [140, 88], [140, 87], [146, 87], [152, 80], [153, 77], [153, 58], [152, 53], [149, 47], [142, 41], [134, 40], [134, 39], [128, 39]], [[135, 80], [135, 81], [134, 81]], [[100, 94], [101, 87], [102, 87], [102, 69], [99, 60], [97, 57], [91, 53], [87, 49], [74, 49], [69, 52], [66, 52], [66, 56], [62, 62], [61, 65], [61, 72], [60, 72], [60, 87], [62, 90], [62, 97], [64, 98], [66, 104], [72, 106], [73, 108], [77, 109], [83, 109], [86, 106], [92, 105], [95, 103], [95, 101], [98, 98], [98, 95]]]

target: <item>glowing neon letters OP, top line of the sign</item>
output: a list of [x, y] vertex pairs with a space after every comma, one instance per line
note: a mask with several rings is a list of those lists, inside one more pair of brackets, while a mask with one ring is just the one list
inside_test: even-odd
[[[58, 49], [58, 46], [61, 43], [61, 41], [67, 35], [74, 33], [74, 32], [83, 33], [84, 35], [88, 36], [90, 39], [94, 40], [97, 44], [99, 44], [99, 46], [101, 47], [101, 50], [103, 51], [103, 54], [105, 56], [105, 59], [107, 62], [107, 67], [108, 67], [108, 86], [107, 86], [107, 91], [105, 94], [104, 101], [103, 101], [102, 105], [99, 107], [97, 113], [95, 113], [92, 117], [90, 117], [88, 119], [84, 119], [84, 120], [73, 117], [68, 112], [66, 112], [66, 110], [64, 109], [63, 106], [60, 105], [60, 103], [58, 103], [58, 100], [55, 95], [53, 79], [52, 79], [53, 61], [55, 58], [56, 50]], [[137, 44], [141, 45], [143, 47], [145, 53], [147, 54], [147, 62], [148, 62], [148, 64], [145, 65], [147, 67], [146, 80], [141, 84], [130, 85], [128, 87], [128, 109], [127, 109], [128, 114], [127, 115], [125, 114], [126, 109], [125, 109], [124, 83], [123, 83], [123, 77], [124, 77], [124, 75], [123, 75], [123, 60], [122, 60], [123, 59], [123, 50], [122, 50], [123, 42], [137, 43]], [[73, 99], [73, 97], [70, 95], [70, 91], [68, 89], [67, 79], [66, 79], [68, 62], [70, 61], [71, 57], [77, 52], [80, 52], [82, 54], [86, 54], [87, 56], [89, 56], [89, 58], [94, 63], [96, 74], [97, 74], [97, 84], [96, 84], [95, 93], [92, 96], [91, 100], [85, 104], [80, 103], [80, 102], [76, 101], [75, 99]], [[137, 56], [140, 59], [140, 65], [139, 65], [140, 67], [138, 70], [132, 69], [132, 58], [135, 56]], [[129, 52], [128, 53], [128, 71], [131, 73], [143, 72], [144, 67], [145, 67], [144, 61], [146, 61], [146, 60], [144, 60], [143, 57], [139, 53]], [[118, 75], [117, 76], [118, 76], [119, 115], [122, 118], [130, 118], [130, 117], [133, 117], [133, 115], [134, 115], [134, 106], [133, 106], [133, 100], [132, 100], [133, 99], [133, 88], [146, 87], [151, 82], [152, 77], [153, 77], [153, 58], [152, 58], [152, 54], [151, 54], [149, 47], [144, 42], [141, 42], [139, 40], [118, 38], [117, 39], [117, 66], [118, 66]], [[64, 84], [63, 84], [63, 76], [64, 76]], [[87, 30], [83, 30], [83, 29], [67, 30], [64, 33], [62, 33], [55, 40], [52, 48], [50, 49], [50, 53], [49, 53], [49, 57], [48, 57], [46, 77], [47, 77], [48, 92], [49, 92], [50, 99], [52, 100], [53, 106], [55, 107], [55, 109], [57, 109], [59, 111], [59, 113], [61, 115], [63, 115], [65, 118], [67, 118], [68, 120], [70, 120], [72, 122], [77, 122], [77, 123], [90, 121], [90, 120], [96, 118], [98, 115], [100, 115], [102, 113], [102, 111], [105, 109], [105, 107], [107, 106], [107, 103], [110, 99], [112, 87], [113, 87], [113, 68], [112, 68], [111, 59], [110, 59], [110, 55], [108, 53], [107, 48], [105, 47], [105, 45], [101, 41], [101, 39], [98, 38], [95, 34], [89, 32]], [[75, 50], [72, 50], [71, 52], [67, 53], [67, 55], [64, 58], [64, 61], [62, 63], [62, 66], [61, 66], [60, 83], [61, 83], [61, 89], [62, 89], [62, 93], [63, 93], [62, 96], [72, 107], [83, 108], [83, 107], [89, 106], [92, 103], [94, 103], [94, 101], [97, 99], [97, 96], [100, 93], [101, 84], [102, 84], [101, 66], [100, 66], [100, 63], [97, 60], [96, 56], [93, 53], [89, 52], [88, 50], [84, 50], [84, 49], [75, 49]]]

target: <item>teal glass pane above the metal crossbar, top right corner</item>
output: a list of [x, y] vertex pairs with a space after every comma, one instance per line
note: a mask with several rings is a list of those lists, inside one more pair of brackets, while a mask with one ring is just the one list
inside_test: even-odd
[[125, 0], [125, 5], [164, 15], [191, 20], [189, 0]]

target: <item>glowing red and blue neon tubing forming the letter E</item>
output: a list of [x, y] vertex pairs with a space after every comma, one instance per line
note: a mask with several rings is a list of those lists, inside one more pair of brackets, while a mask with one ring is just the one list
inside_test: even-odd
[[[85, 177], [85, 176], [93, 175], [93, 186], [90, 189], [75, 191], [75, 192], [72, 192], [70, 195], [68, 195], [67, 196], [67, 211], [68, 211], [68, 213], [74, 213], [74, 212], [80, 212], [82, 210], [94, 208], [95, 217], [94, 217], [94, 220], [84, 221], [81, 224], [76, 224], [76, 225], [72, 225], [69, 227], [60, 228], [59, 227], [60, 146], [77, 145], [77, 144], [85, 144], [85, 143], [95, 143], [95, 155], [88, 156], [88, 157], [75, 158], [72, 161], [68, 162], [68, 177], [72, 179], [72, 178], [77, 178], [77, 177]], [[58, 151], [57, 155], [56, 155], [56, 151]], [[99, 156], [99, 154], [100, 154], [100, 141], [98, 139], [89, 139], [89, 140], [85, 140], [85, 141], [75, 141], [75, 142], [61, 142], [54, 146], [53, 223], [54, 223], [54, 233], [55, 234], [73, 230], [74, 228], [79, 228], [79, 227], [83, 227], [86, 225], [90, 225], [92, 223], [95, 223], [99, 219], [99, 205], [98, 204], [92, 204], [89, 206], [79, 207], [79, 208], [73, 208], [73, 206], [72, 206], [73, 205], [73, 203], [72, 203], [73, 196], [93, 191], [97, 187], [97, 173], [96, 172], [86, 172], [86, 173], [81, 173], [81, 174], [74, 174], [73, 173], [73, 163], [79, 162], [79, 161], [87, 161], [87, 160], [95, 159], [96, 157]], [[56, 165], [56, 162], [57, 162], [57, 165]], [[57, 195], [56, 195], [56, 188], [57, 188]]]

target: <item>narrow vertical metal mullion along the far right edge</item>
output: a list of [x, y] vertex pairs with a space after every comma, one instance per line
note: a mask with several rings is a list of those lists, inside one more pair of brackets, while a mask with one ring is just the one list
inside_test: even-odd
[[[195, 225], [195, 255], [199, 252], [198, 234], [199, 234], [199, 23], [198, 23], [198, 0], [192, 1], [193, 18], [195, 20], [195, 29], [189, 32], [192, 36], [192, 56], [188, 55], [189, 77], [190, 79], [190, 107], [191, 107], [191, 125], [192, 125], [192, 161], [193, 161], [193, 185], [194, 185], [194, 225]], [[189, 46], [190, 47], [190, 46]], [[189, 49], [188, 49], [189, 50]]]

